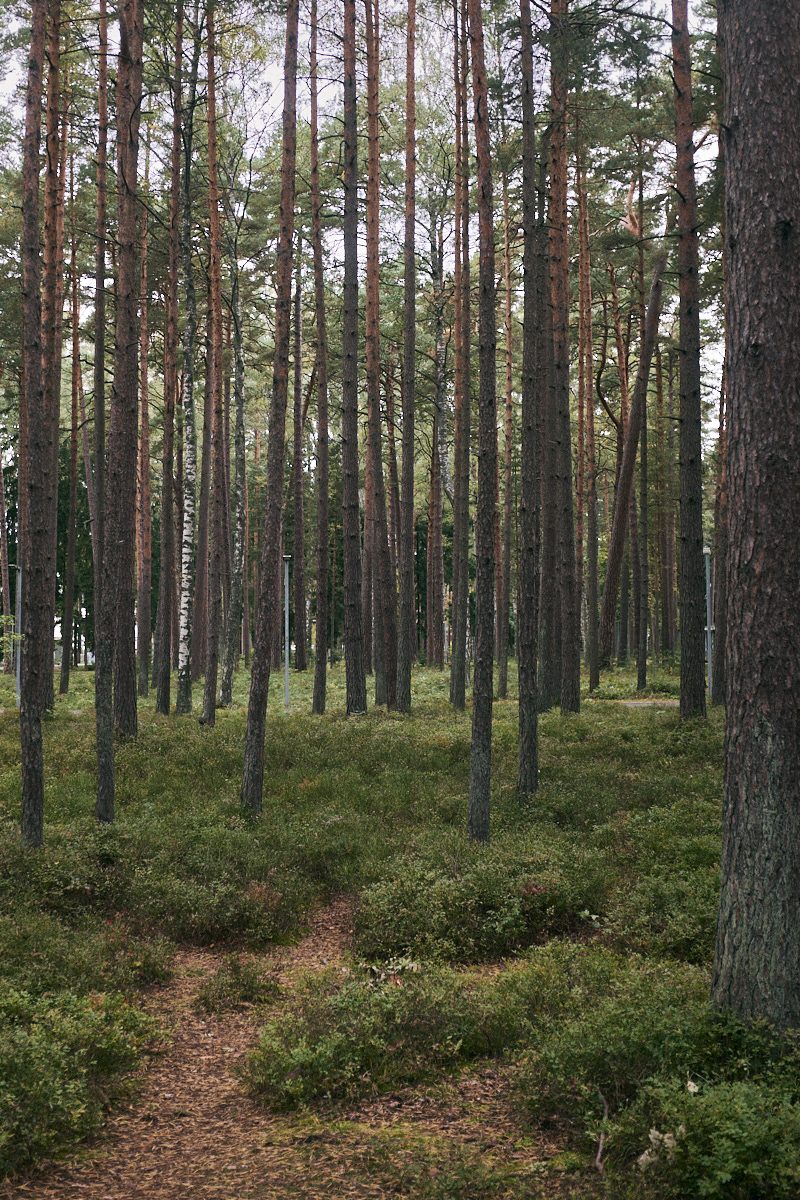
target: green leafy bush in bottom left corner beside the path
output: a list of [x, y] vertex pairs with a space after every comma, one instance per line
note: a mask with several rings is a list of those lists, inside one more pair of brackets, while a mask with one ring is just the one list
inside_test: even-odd
[[120, 996], [0, 990], [0, 1176], [97, 1128], [151, 1022]]

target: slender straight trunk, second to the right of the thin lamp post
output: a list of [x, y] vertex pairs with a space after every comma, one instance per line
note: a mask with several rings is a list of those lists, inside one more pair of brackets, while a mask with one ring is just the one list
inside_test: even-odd
[[[414, 2], [414, 0], [411, 0]], [[327, 416], [327, 322], [323, 272], [323, 221], [319, 186], [319, 98], [317, 64], [317, 0], [311, 4], [311, 240], [314, 259], [314, 324], [317, 329], [317, 641], [314, 644], [313, 713], [325, 712], [327, 682], [330, 458]]]

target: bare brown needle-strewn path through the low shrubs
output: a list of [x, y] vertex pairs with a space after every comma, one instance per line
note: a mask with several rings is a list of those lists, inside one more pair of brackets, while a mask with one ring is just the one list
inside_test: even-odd
[[[308, 972], [347, 972], [351, 935], [353, 904], [338, 899], [313, 913], [296, 946], [247, 961], [285, 996]], [[162, 1036], [128, 1102], [71, 1162], [0, 1184], [0, 1200], [367, 1200], [431, 1187], [465, 1196], [479, 1159], [513, 1195], [525, 1182], [531, 1198], [594, 1194], [591, 1180], [579, 1190], [575, 1178], [559, 1184], [564, 1146], [531, 1138], [497, 1063], [341, 1109], [333, 1120], [265, 1111], [241, 1079], [263, 1010], [209, 1013], [198, 1003], [224, 965], [218, 950], [178, 950], [172, 978], [146, 997]]]

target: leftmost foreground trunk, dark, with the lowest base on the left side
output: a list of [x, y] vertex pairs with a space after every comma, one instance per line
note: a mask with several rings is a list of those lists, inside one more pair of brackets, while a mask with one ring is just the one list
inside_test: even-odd
[[[38, 239], [38, 157], [42, 134], [42, 71], [47, 0], [32, 0], [31, 42], [25, 90], [23, 140], [23, 378], [26, 436], [23, 550], [24, 644], [19, 731], [22, 742], [22, 838], [41, 846], [44, 828], [44, 757], [42, 751], [42, 679], [48, 667], [48, 571], [52, 509], [55, 505], [53, 457], [47, 454], [47, 401], [42, 384], [41, 257]], [[20, 424], [23, 424], [20, 421]], [[20, 470], [20, 476], [23, 472]]]

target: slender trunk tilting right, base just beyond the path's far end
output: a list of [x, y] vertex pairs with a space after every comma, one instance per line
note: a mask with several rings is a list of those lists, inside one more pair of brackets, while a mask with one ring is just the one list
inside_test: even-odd
[[[275, 359], [266, 454], [266, 514], [261, 548], [260, 592], [253, 647], [242, 809], [255, 816], [264, 792], [264, 731], [270, 689], [270, 656], [279, 608], [273, 604], [275, 566], [281, 550], [283, 462], [285, 452], [287, 400], [289, 391], [289, 317], [291, 312], [291, 246], [294, 240], [295, 160], [297, 148], [297, 25], [299, 0], [287, 7], [287, 40], [283, 62], [283, 136], [281, 151], [281, 209], [275, 296]], [[357, 505], [357, 493], [356, 493]], [[357, 508], [356, 508], [357, 516]]]

